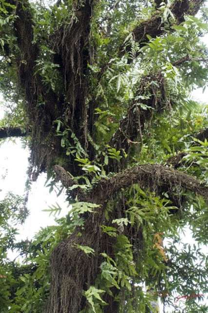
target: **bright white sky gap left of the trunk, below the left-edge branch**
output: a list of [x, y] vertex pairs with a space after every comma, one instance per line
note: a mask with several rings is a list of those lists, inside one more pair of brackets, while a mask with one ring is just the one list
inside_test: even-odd
[[[29, 151], [21, 148], [20, 139], [16, 143], [7, 140], [0, 146], [0, 199], [3, 199], [8, 191], [14, 194], [24, 195], [26, 171], [28, 167]], [[41, 175], [37, 182], [33, 182], [32, 190], [29, 193], [27, 207], [30, 215], [25, 224], [19, 225], [19, 238], [32, 239], [40, 227], [55, 224], [54, 217], [49, 217], [49, 212], [42, 212], [48, 209], [49, 205], [57, 202], [62, 207], [58, 217], [65, 216], [69, 208], [64, 202], [64, 192], [57, 198], [56, 192], [49, 193], [49, 188], [44, 187], [46, 176]], [[18, 238], [18, 239], [19, 239]]]

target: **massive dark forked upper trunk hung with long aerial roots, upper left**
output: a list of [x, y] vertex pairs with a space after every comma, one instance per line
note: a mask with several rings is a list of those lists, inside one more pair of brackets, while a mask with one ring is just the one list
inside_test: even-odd
[[[71, 21], [59, 24], [53, 38], [48, 37], [40, 27], [39, 32], [43, 35], [39, 36], [40, 42], [34, 38], [34, 11], [30, 2], [28, 0], [8, 0], [8, 2], [16, 5], [16, 19], [13, 24], [13, 33], [17, 39], [17, 45], [13, 47], [15, 68], [19, 93], [26, 99], [25, 109], [33, 129], [31, 162], [39, 173], [51, 166], [52, 159], [65, 153], [60, 147], [61, 138], [57, 137], [54, 127], [54, 121], [60, 119], [60, 116], [64, 124], [76, 133], [82, 147], [87, 145], [86, 70], [90, 58], [90, 21], [95, 1], [86, 0], [83, 3], [74, 1], [71, 7], [73, 13]], [[10, 14], [14, 15], [14, 12]], [[38, 23], [36, 26], [38, 28]], [[41, 45], [50, 47], [55, 52], [53, 61], [58, 67], [57, 75], [60, 74], [58, 86], [55, 84], [56, 90], [51, 88], [50, 83], [45, 83], [41, 75], [41, 64], [36, 62], [41, 53], [39, 51]], [[67, 105], [64, 104], [65, 98]], [[48, 144], [49, 138], [52, 145]], [[71, 144], [74, 144], [73, 139]], [[68, 169], [76, 176], [80, 168], [74, 164], [70, 166], [73, 163], [72, 159], [73, 156]]]

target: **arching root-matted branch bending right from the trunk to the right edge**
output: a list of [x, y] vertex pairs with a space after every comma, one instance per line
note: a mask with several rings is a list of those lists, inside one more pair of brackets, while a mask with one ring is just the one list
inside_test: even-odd
[[118, 190], [130, 187], [135, 183], [148, 187], [155, 192], [161, 185], [171, 188], [174, 186], [184, 187], [203, 196], [206, 201], [208, 199], [208, 186], [201, 184], [200, 181], [188, 174], [156, 164], [144, 164], [115, 174], [110, 179], [101, 179], [92, 191], [91, 197], [95, 203], [102, 203], [111, 199]]

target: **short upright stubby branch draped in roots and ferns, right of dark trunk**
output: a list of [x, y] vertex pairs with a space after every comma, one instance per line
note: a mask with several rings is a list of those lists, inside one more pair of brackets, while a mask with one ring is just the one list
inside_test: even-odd
[[[156, 84], [151, 84], [154, 81]], [[145, 95], [151, 95], [146, 99]], [[165, 109], [170, 110], [170, 102], [166, 92], [166, 82], [163, 74], [158, 71], [154, 74], [144, 76], [135, 93], [127, 116], [121, 120], [118, 130], [108, 143], [109, 146], [124, 153], [128, 157], [123, 157], [119, 162], [115, 159], [109, 159], [108, 172], [118, 172], [126, 167], [130, 161], [130, 150], [132, 146], [138, 148], [142, 140], [142, 131], [145, 123], [151, 119], [152, 114]]]

